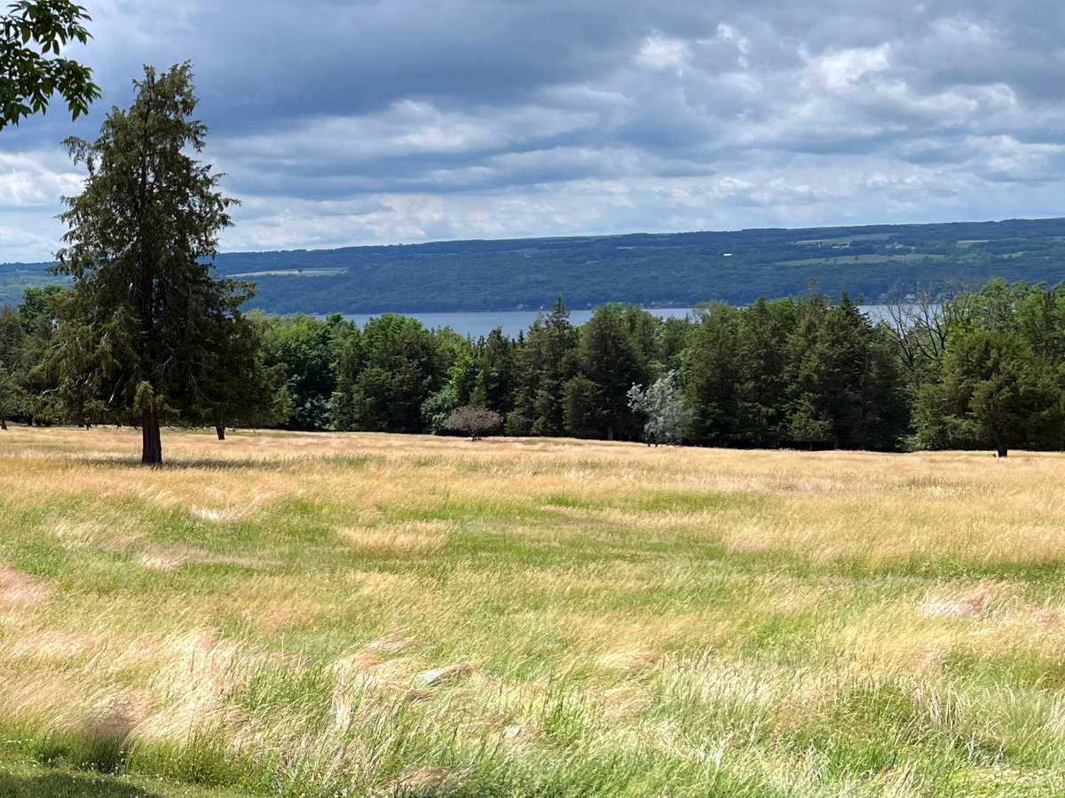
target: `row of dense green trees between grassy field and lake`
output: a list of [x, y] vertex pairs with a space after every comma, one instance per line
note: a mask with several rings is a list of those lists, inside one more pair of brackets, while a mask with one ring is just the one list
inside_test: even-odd
[[[80, 421], [50, 402], [38, 365], [62, 292], [30, 289], [0, 311], [2, 419]], [[219, 427], [444, 434], [477, 407], [515, 436], [657, 441], [653, 417], [671, 412], [683, 430], [668, 438], [701, 445], [1065, 449], [1065, 286], [996, 279], [899, 304], [880, 323], [847, 294], [814, 290], [712, 303], [693, 319], [605, 305], [580, 326], [559, 299], [517, 339], [476, 341], [392, 313], [363, 328], [340, 315], [252, 321], [246, 357], [272, 395], [216, 410]]]

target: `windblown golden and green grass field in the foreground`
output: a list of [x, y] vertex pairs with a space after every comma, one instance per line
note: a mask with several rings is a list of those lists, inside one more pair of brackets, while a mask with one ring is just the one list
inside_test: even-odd
[[0, 795], [1054, 796], [1065, 456], [0, 434]]

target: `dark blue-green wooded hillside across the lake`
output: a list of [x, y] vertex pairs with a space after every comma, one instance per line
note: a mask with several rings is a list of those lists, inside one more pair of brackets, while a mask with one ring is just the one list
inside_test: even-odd
[[[571, 308], [746, 304], [802, 293], [812, 279], [875, 302], [997, 276], [1065, 281], [1065, 218], [231, 253], [217, 266], [258, 282], [250, 306], [274, 313], [507, 310], [559, 295]], [[0, 300], [13, 300], [19, 279], [47, 281], [42, 268], [0, 266]]]

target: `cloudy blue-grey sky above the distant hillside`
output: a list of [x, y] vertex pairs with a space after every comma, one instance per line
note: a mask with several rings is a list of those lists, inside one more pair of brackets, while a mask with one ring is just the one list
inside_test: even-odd
[[103, 97], [0, 131], [0, 262], [191, 61], [223, 251], [1065, 215], [1046, 0], [81, 0]]

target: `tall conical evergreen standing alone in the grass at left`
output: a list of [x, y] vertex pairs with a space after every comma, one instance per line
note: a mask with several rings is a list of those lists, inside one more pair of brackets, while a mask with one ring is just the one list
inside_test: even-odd
[[190, 154], [207, 133], [192, 118], [192, 69], [144, 71], [133, 104], [112, 109], [95, 142], [66, 142], [88, 177], [64, 200], [70, 229], [55, 270], [75, 284], [59, 304], [48, 367], [68, 412], [140, 425], [141, 460], [158, 466], [162, 423], [198, 422], [226, 398], [214, 391], [232, 381], [217, 370], [231, 363], [212, 353], [243, 335], [239, 308], [252, 290], [212, 272], [233, 200]]

